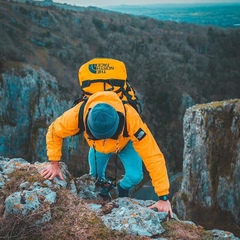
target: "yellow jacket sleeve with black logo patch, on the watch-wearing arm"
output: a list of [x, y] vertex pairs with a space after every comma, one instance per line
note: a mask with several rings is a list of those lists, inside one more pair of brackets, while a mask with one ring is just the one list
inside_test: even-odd
[[126, 110], [129, 110], [126, 111], [128, 134], [133, 142], [134, 149], [142, 158], [149, 172], [156, 194], [158, 196], [169, 194], [169, 179], [161, 150], [139, 114], [130, 106]]

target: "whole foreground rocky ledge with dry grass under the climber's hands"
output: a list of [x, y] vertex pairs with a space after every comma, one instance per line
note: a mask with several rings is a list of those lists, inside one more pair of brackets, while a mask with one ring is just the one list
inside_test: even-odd
[[[232, 233], [205, 231], [174, 214], [154, 212], [152, 200], [103, 201], [95, 179], [74, 178], [61, 163], [65, 180], [41, 178], [48, 163], [0, 157], [0, 225], [7, 239], [239, 239]], [[179, 230], [179, 231], [178, 231]], [[22, 235], [21, 235], [22, 234]], [[184, 234], [184, 236], [182, 235]], [[187, 238], [186, 238], [187, 237]]]

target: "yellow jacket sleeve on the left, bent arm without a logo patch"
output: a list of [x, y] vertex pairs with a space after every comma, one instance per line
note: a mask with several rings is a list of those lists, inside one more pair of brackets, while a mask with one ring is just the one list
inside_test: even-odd
[[47, 155], [49, 161], [60, 161], [62, 156], [63, 139], [73, 136], [78, 128], [78, 112], [82, 103], [69, 109], [58, 117], [48, 128], [46, 135]]

